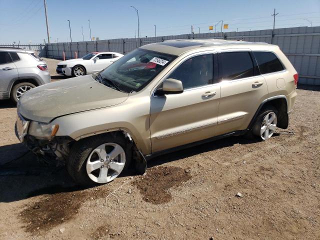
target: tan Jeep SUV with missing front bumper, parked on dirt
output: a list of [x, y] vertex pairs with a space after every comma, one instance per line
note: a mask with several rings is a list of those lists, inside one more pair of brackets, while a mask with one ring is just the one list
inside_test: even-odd
[[286, 128], [298, 75], [278, 46], [216, 39], [141, 46], [86, 76], [26, 92], [17, 136], [80, 184], [113, 180], [134, 161]]

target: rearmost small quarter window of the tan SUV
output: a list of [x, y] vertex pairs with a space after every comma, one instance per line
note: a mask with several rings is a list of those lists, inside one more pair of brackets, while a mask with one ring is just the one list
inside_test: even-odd
[[261, 74], [281, 71], [284, 69], [279, 59], [272, 52], [254, 51], [253, 54], [258, 63]]

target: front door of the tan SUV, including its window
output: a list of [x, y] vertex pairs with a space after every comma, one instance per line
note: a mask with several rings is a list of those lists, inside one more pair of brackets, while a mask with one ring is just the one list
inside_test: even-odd
[[220, 86], [213, 75], [210, 53], [189, 57], [166, 77], [181, 80], [183, 92], [151, 96], [152, 152], [214, 136]]

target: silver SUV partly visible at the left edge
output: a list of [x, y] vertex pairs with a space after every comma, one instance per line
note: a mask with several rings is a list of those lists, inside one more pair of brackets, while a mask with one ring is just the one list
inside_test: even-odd
[[33, 51], [0, 47], [0, 99], [16, 103], [26, 91], [50, 80], [46, 62]]

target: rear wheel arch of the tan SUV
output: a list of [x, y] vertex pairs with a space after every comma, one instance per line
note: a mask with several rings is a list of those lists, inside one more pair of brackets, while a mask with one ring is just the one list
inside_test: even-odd
[[289, 123], [289, 117], [288, 117], [288, 103], [285, 95], [277, 95], [269, 97], [261, 102], [258, 109], [254, 113], [247, 129], [250, 129], [253, 126], [253, 123], [259, 113], [259, 111], [262, 109], [262, 107], [266, 105], [272, 105], [278, 110], [278, 116], [277, 116], [277, 127], [280, 128], [287, 128]]

